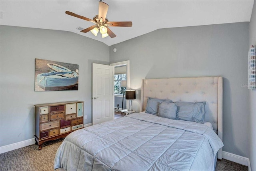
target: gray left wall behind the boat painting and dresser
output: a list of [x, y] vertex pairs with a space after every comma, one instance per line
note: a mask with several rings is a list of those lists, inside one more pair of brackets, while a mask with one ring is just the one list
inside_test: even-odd
[[[34, 137], [34, 104], [85, 101], [84, 123], [92, 122], [92, 63], [109, 64], [107, 45], [71, 32], [13, 26], [0, 26], [0, 41], [0, 146]], [[35, 58], [79, 64], [79, 90], [35, 92]]]

